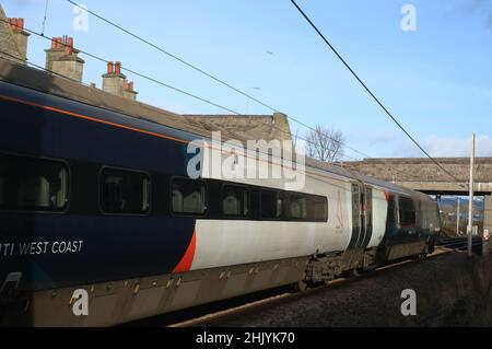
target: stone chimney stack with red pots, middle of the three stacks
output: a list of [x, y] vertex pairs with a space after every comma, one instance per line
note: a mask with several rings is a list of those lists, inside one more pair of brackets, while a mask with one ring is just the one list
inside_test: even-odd
[[85, 61], [79, 58], [73, 47], [73, 37], [54, 37], [51, 47], [46, 49], [46, 69], [82, 82]]

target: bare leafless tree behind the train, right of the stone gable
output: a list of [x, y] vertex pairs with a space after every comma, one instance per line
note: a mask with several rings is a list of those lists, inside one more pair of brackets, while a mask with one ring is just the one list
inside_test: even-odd
[[336, 162], [343, 156], [345, 139], [341, 131], [316, 125], [306, 137], [306, 155], [325, 162]]

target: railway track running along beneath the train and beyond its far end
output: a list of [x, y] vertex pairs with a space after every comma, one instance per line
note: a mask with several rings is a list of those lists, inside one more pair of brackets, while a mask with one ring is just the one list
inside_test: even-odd
[[[473, 240], [473, 249], [481, 248], [481, 239]], [[443, 254], [453, 252], [462, 252], [468, 248], [467, 239], [443, 239], [437, 243], [436, 252], [429, 256], [429, 258], [435, 258]], [[292, 301], [296, 301], [318, 292], [324, 292], [330, 288], [338, 286], [356, 282], [361, 278], [371, 278], [380, 276], [384, 272], [389, 272], [397, 268], [403, 268], [411, 263], [419, 263], [415, 260], [403, 260], [395, 264], [390, 264], [367, 274], [363, 274], [358, 277], [349, 279], [337, 279], [331, 281], [328, 286], [312, 289], [302, 293], [292, 293], [290, 288], [278, 288], [273, 290], [267, 290], [232, 300], [220, 301], [211, 304], [197, 306], [189, 310], [174, 312], [155, 316], [152, 318], [141, 319], [133, 323], [125, 324], [124, 326], [136, 327], [207, 327], [219, 326], [222, 322], [226, 322], [231, 318], [237, 318], [239, 316], [246, 316], [255, 312], [261, 311], [269, 306], [281, 305]]]

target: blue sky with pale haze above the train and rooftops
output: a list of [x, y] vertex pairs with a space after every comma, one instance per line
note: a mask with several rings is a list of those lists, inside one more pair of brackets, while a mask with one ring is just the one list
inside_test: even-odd
[[[340, 130], [371, 158], [423, 156], [367, 95], [289, 0], [80, 0], [89, 10], [315, 126]], [[43, 28], [46, 0], [0, 0], [8, 16]], [[432, 156], [492, 156], [492, 0], [297, 0], [367, 86]], [[415, 31], [401, 22], [410, 4]], [[77, 11], [75, 11], [77, 12]], [[46, 36], [244, 114], [271, 110], [89, 16], [48, 0]], [[78, 23], [78, 22], [77, 22]], [[31, 36], [28, 59], [44, 66], [49, 42]], [[86, 60], [84, 82], [101, 86], [103, 62]], [[218, 107], [128, 74], [139, 101], [175, 113], [223, 114]], [[291, 121], [293, 133], [306, 128]], [[362, 155], [345, 150], [347, 160]]]

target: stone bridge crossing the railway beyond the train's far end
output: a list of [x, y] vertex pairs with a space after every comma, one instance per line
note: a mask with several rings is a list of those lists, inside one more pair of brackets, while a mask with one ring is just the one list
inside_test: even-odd
[[[344, 162], [341, 165], [430, 195], [467, 196], [470, 159], [435, 160], [453, 174], [453, 177], [430, 159], [365, 159]], [[477, 196], [485, 198], [483, 226], [492, 232], [492, 158], [477, 158], [475, 163], [473, 189]]]

